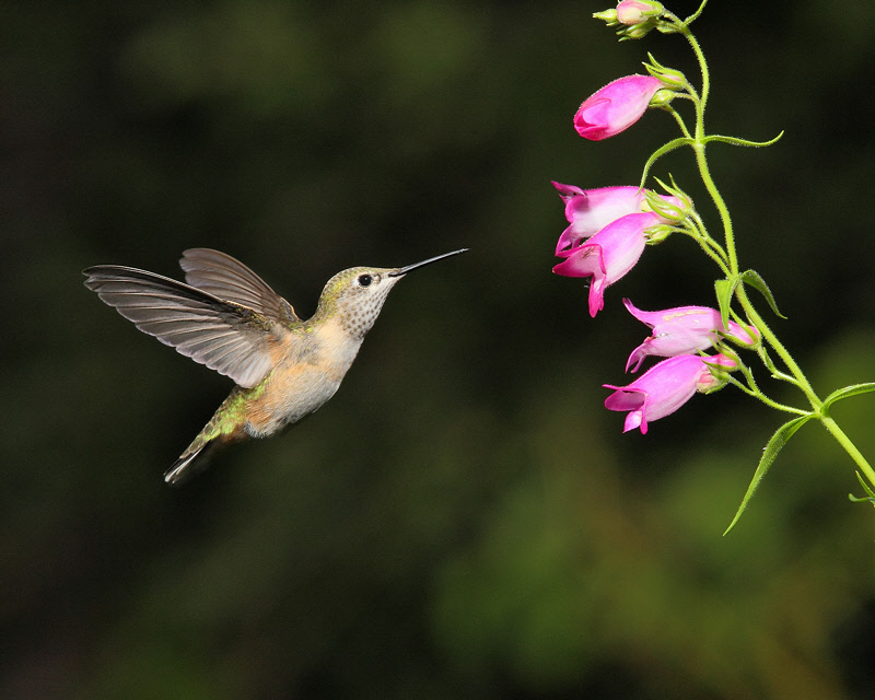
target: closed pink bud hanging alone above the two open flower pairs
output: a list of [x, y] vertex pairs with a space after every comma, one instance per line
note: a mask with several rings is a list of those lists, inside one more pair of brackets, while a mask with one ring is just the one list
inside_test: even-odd
[[591, 141], [625, 131], [641, 118], [662, 86], [652, 75], [619, 78], [586, 98], [574, 115], [574, 128]]

